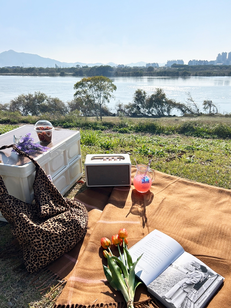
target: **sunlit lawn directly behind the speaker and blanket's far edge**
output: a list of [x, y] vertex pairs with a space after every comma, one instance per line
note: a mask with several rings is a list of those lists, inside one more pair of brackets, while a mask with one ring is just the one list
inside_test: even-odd
[[[82, 145], [82, 160], [87, 154], [131, 153], [140, 164], [189, 180], [231, 189], [231, 141], [192, 136], [156, 136], [148, 134], [100, 134], [100, 142]], [[102, 148], [100, 144], [112, 144]]]

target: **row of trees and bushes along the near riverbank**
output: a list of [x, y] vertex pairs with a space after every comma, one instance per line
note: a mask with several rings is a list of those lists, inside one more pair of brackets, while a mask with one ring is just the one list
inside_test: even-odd
[[[115, 98], [113, 92], [116, 86], [111, 79], [105, 76], [93, 76], [81, 79], [74, 85], [74, 98], [64, 103], [57, 97], [47, 96], [43, 92], [34, 94], [21, 94], [10, 103], [0, 104], [0, 110], [20, 112], [23, 116], [33, 115], [82, 115], [95, 116], [102, 120], [102, 116], [169, 116], [172, 111], [178, 111], [181, 115], [200, 115], [200, 106], [195, 102], [191, 94], [187, 93], [185, 103], [168, 99], [162, 88], [156, 88], [153, 94], [147, 95], [142, 89], [137, 89], [131, 103], [118, 102], [111, 110], [107, 103]], [[218, 113], [217, 106], [211, 100], [204, 100], [203, 111]]]

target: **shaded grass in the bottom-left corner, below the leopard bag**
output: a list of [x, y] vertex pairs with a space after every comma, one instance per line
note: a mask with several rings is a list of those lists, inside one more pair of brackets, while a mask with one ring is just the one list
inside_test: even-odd
[[[0, 227], [0, 253], [10, 249], [13, 240], [9, 225]], [[22, 264], [22, 255], [0, 258], [0, 307], [2, 308], [52, 308], [64, 283], [52, 278], [50, 273], [29, 274]], [[54, 279], [54, 280], [53, 280]], [[43, 290], [44, 287], [47, 289]]]

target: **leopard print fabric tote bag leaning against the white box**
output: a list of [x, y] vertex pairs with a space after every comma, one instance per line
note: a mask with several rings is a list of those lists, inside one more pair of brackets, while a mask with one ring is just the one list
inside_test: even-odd
[[29, 204], [10, 196], [0, 176], [0, 211], [10, 224], [22, 250], [28, 272], [33, 273], [72, 249], [87, 232], [88, 213], [82, 203], [64, 198], [32, 157], [14, 148], [35, 165], [34, 200]]

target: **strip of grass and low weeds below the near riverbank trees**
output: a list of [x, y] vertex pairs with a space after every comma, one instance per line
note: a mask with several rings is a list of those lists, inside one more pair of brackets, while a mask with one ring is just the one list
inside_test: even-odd
[[103, 117], [102, 121], [96, 121], [94, 117], [83, 117], [79, 115], [52, 115], [47, 114], [39, 117], [22, 116], [19, 113], [0, 111], [0, 123], [30, 123], [34, 124], [38, 120], [50, 120], [55, 127], [74, 128], [82, 130], [111, 130], [119, 133], [153, 133], [202, 138], [230, 138], [231, 137], [231, 117], [222, 115], [209, 117], [184, 116], [184, 117], [158, 117], [158, 118], [126, 118]]

